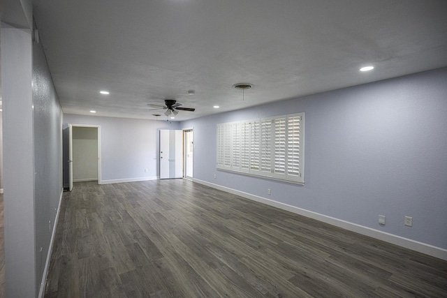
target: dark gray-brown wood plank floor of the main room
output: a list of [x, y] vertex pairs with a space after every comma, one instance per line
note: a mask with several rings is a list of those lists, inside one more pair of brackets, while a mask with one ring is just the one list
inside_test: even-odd
[[447, 262], [183, 179], [82, 182], [45, 297], [447, 297]]

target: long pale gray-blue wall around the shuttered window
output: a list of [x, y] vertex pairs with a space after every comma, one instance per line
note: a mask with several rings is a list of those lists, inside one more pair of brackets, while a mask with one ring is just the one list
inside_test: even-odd
[[[194, 178], [447, 248], [446, 82], [442, 68], [184, 121]], [[306, 113], [304, 186], [216, 170], [216, 124], [294, 112]]]

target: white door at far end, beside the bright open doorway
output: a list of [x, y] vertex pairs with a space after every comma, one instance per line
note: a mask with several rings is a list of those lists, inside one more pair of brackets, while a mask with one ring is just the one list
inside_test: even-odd
[[183, 132], [160, 130], [160, 179], [183, 177]]

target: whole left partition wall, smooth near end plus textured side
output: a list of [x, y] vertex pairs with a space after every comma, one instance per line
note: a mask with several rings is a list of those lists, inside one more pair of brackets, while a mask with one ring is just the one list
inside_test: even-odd
[[61, 108], [42, 45], [24, 28], [31, 1], [14, 2], [24, 11], [8, 17], [20, 26], [9, 18], [0, 36], [6, 296], [37, 297], [62, 191]]

